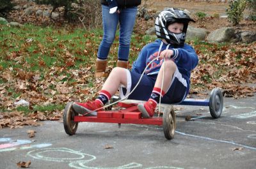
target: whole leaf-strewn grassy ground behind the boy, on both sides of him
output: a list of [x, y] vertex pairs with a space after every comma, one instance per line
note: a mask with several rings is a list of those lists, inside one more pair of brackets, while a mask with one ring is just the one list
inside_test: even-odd
[[[0, 128], [55, 121], [61, 119], [68, 101], [95, 98], [104, 82], [93, 76], [101, 39], [100, 29], [0, 24]], [[150, 41], [154, 38], [143, 33], [132, 36], [131, 63]], [[206, 98], [215, 87], [227, 97], [255, 94], [256, 43], [188, 43], [200, 59], [191, 75], [191, 94]], [[118, 34], [108, 71], [115, 67], [117, 50]]]

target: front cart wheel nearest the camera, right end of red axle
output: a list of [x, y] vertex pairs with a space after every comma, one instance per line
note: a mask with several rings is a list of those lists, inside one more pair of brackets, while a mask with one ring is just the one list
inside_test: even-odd
[[171, 140], [174, 137], [175, 129], [176, 129], [176, 118], [173, 107], [164, 108], [163, 114], [163, 129], [164, 136], [168, 140]]

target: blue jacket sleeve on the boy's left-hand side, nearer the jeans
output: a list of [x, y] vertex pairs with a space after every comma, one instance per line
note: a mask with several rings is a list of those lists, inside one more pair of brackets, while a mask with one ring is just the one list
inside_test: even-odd
[[144, 69], [146, 68], [146, 61], [147, 61], [147, 55], [148, 51], [145, 47], [143, 47], [136, 59], [136, 61], [132, 64], [132, 71], [135, 71], [137, 73], [142, 73]]

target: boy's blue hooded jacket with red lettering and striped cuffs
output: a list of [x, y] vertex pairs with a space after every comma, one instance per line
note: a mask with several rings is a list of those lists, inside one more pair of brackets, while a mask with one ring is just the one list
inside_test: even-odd
[[[161, 43], [163, 43], [163, 41], [157, 39], [156, 41], [148, 43], [148, 45], [145, 45], [145, 47], [142, 48], [140, 54], [138, 55], [136, 61], [133, 62], [132, 71], [135, 71], [137, 73], [143, 73], [147, 64], [157, 57], [159, 48], [161, 47]], [[163, 43], [163, 46], [161, 47], [160, 51], [165, 50], [167, 46], [168, 44]], [[188, 84], [188, 94], [191, 70], [193, 70], [198, 64], [198, 56], [196, 55], [194, 48], [186, 43], [184, 44], [184, 47], [174, 48], [172, 45], [170, 45], [168, 49], [173, 50], [173, 55], [171, 58], [177, 65], [177, 68], [179, 69], [179, 72], [182, 74], [182, 77], [186, 79], [186, 82]], [[145, 71], [145, 74], [148, 76], [157, 75], [162, 64], [163, 59], [156, 59], [148, 66], [147, 70]]]

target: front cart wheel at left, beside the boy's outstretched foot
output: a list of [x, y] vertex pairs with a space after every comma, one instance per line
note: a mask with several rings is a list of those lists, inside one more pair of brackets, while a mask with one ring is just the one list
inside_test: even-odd
[[63, 113], [64, 129], [68, 135], [74, 135], [77, 130], [78, 122], [74, 122], [75, 115], [78, 115], [72, 108], [72, 103], [67, 103]]

